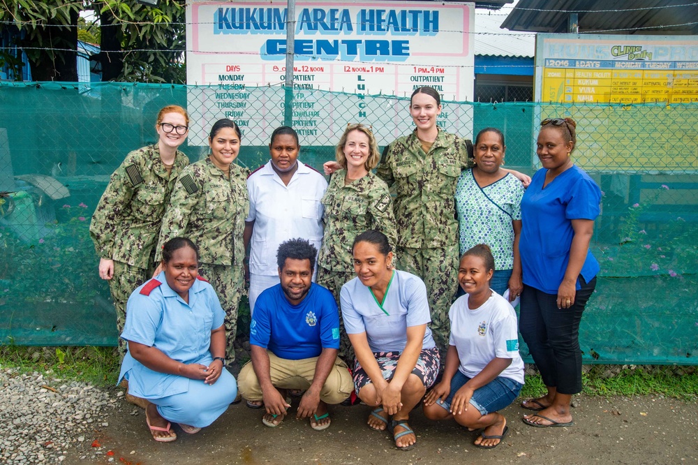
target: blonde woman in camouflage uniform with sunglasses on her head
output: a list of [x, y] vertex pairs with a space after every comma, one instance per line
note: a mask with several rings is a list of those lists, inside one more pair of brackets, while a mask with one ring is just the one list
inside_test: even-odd
[[[397, 231], [388, 186], [371, 172], [380, 158], [371, 128], [348, 124], [335, 154], [342, 169], [334, 172], [322, 197], [325, 234], [318, 257], [318, 284], [332, 291], [339, 306], [339, 291], [355, 276], [354, 238], [366, 230], [378, 230], [394, 247]], [[353, 350], [344, 325], [339, 327], [339, 356], [348, 360]]]

